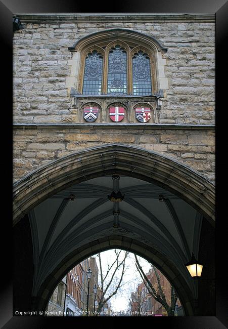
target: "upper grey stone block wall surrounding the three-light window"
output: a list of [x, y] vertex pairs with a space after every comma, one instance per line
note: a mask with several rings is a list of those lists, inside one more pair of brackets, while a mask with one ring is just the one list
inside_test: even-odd
[[211, 19], [32, 23], [24, 18], [22, 23], [25, 28], [13, 37], [14, 122], [75, 122], [65, 87], [73, 69], [68, 47], [85, 35], [116, 27], [153, 36], [168, 49], [162, 53], [168, 89], [159, 123], [214, 124], [215, 23]]

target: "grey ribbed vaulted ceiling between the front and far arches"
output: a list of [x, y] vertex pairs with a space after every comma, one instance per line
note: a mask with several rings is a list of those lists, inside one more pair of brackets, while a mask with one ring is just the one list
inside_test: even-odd
[[[124, 195], [121, 202], [109, 200], [113, 190]], [[161, 187], [127, 176], [90, 179], [41, 202], [29, 212], [29, 220], [35, 255], [33, 294], [72, 251], [115, 234], [144, 241], [159, 251], [194, 291], [185, 263], [192, 252], [198, 256], [202, 216]]]

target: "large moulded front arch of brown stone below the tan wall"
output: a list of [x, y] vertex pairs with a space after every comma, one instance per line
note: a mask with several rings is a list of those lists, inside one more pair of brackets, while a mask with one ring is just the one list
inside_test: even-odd
[[167, 156], [118, 143], [74, 152], [41, 166], [17, 182], [13, 189], [13, 223], [57, 192], [115, 171], [169, 190], [215, 224], [215, 187], [209, 180]]

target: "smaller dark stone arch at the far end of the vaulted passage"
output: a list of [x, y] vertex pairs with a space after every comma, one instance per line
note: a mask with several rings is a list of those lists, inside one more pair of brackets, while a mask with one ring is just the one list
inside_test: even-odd
[[186, 284], [184, 277], [179, 274], [172, 262], [143, 242], [122, 235], [102, 237], [101, 239], [86, 243], [81, 248], [76, 249], [69, 254], [67, 258], [64, 258], [59, 266], [41, 285], [40, 290], [34, 299], [33, 308], [36, 310], [45, 310], [45, 307], [55, 290], [57, 282], [59, 282], [74, 265], [94, 254], [114, 248], [135, 253], [153, 263], [153, 265], [156, 266], [174, 286], [174, 289], [178, 293], [181, 305], [183, 306], [185, 315], [197, 315], [193, 294], [189, 289], [189, 286]]

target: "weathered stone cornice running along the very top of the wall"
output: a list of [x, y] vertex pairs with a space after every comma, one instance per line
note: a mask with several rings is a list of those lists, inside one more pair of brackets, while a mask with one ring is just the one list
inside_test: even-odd
[[14, 14], [23, 22], [28, 23], [41, 23], [41, 22], [88, 22], [88, 23], [111, 23], [111, 22], [132, 22], [132, 23], [215, 23], [215, 14], [179, 14], [179, 13], [85, 13], [85, 14], [72, 14], [72, 13], [48, 13], [48, 14]]

